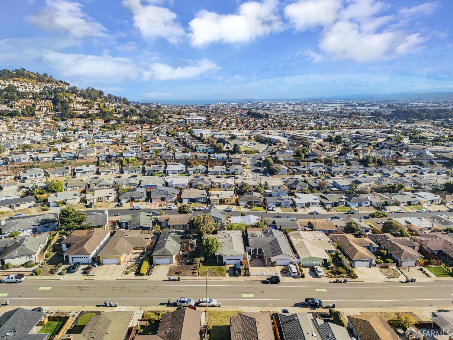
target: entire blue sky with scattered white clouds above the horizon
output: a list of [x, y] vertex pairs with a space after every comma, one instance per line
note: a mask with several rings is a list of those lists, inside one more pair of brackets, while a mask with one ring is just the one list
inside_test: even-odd
[[4, 0], [0, 67], [139, 100], [453, 88], [453, 1]]

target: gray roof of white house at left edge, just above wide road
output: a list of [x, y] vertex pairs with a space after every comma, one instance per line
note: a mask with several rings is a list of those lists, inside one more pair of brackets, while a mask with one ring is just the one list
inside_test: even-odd
[[[0, 248], [4, 248], [0, 253], [0, 259], [36, 254], [39, 246], [46, 243], [47, 233], [29, 237], [4, 238], [0, 240]], [[25, 259], [24, 262], [26, 262]]]

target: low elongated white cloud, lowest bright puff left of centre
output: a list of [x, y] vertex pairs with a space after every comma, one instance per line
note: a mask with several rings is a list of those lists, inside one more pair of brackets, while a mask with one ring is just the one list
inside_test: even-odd
[[154, 79], [169, 80], [198, 77], [201, 74], [218, 70], [220, 67], [210, 60], [202, 59], [194, 66], [173, 68], [167, 64], [154, 63], [151, 65], [150, 69]]

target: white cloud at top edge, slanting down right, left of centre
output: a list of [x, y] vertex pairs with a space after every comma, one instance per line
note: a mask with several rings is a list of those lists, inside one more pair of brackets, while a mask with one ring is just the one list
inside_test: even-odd
[[168, 8], [143, 5], [141, 0], [123, 0], [123, 4], [132, 11], [134, 26], [145, 38], [160, 37], [176, 44], [185, 35], [181, 25], [175, 22], [177, 15]]

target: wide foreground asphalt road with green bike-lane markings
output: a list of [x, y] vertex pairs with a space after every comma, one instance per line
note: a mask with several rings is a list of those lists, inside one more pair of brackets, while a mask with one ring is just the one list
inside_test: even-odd
[[[49, 287], [51, 287], [49, 289]], [[41, 289], [39, 289], [41, 288]], [[452, 306], [452, 282], [282, 282], [266, 285], [257, 281], [208, 281], [208, 297], [222, 306], [300, 307], [306, 297], [335, 302], [343, 308], [444, 307]], [[318, 290], [318, 291], [317, 291]], [[11, 306], [95, 306], [105, 300], [120, 306], [159, 306], [170, 298], [206, 296], [204, 280], [197, 281], [69, 281], [25, 280], [2, 284], [2, 300]], [[2, 301], [3, 302], [3, 301]]]

